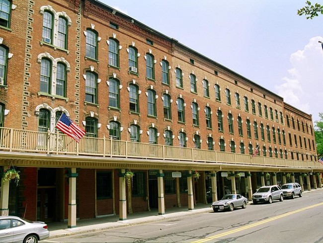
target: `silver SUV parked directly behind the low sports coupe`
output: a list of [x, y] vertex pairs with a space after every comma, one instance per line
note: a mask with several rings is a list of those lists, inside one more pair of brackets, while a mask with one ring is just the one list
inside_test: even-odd
[[273, 200], [283, 201], [283, 190], [279, 186], [262, 186], [252, 194], [252, 203], [272, 203]]

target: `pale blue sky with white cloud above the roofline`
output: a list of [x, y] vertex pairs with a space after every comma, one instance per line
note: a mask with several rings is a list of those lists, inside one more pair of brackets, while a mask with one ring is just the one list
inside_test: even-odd
[[284, 98], [323, 113], [323, 15], [306, 0], [100, 0]]

